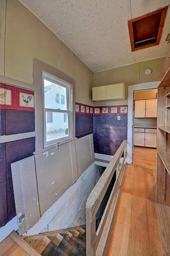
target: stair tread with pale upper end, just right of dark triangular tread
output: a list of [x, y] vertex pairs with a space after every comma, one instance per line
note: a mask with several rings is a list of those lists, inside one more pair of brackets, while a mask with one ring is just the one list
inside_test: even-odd
[[67, 239], [65, 239], [59, 233], [56, 236], [56, 238], [54, 238], [53, 243], [56, 244], [67, 255], [84, 256], [84, 253], [82, 253], [76, 246], [73, 246]]

